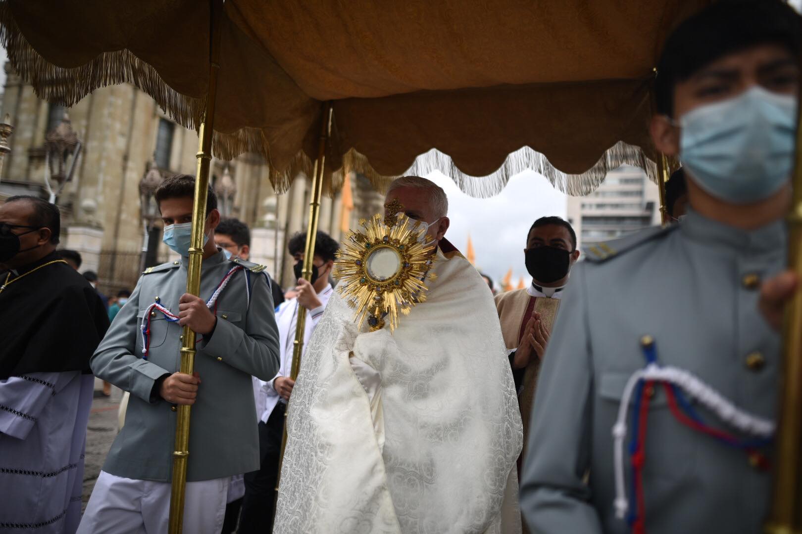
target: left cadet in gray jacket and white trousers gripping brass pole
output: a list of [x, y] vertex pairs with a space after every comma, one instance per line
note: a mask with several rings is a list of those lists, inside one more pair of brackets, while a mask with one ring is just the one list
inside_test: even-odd
[[[185, 294], [194, 187], [178, 175], [156, 190], [164, 242], [181, 259], [144, 272], [91, 359], [131, 399], [79, 532], [167, 532], [176, 404], [193, 405], [184, 532], [220, 532], [230, 477], [259, 468], [251, 375], [278, 370], [273, 299], [263, 266], [215, 246], [211, 188], [201, 297]], [[197, 333], [194, 376], [177, 372], [184, 324]]]

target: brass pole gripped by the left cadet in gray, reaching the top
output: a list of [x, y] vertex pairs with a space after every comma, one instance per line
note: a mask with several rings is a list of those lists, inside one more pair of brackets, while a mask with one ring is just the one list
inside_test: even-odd
[[[223, 0], [210, 1], [209, 21], [209, 92], [206, 95], [206, 110], [198, 131], [199, 150], [195, 179], [195, 201], [192, 205], [192, 243], [189, 247], [187, 267], [187, 293], [198, 295], [201, 291], [201, 261], [203, 260], [203, 236], [206, 221], [206, 195], [209, 191], [209, 163], [212, 159], [212, 134], [214, 131], [214, 106], [217, 98], [217, 73], [220, 70], [220, 17]], [[192, 375], [195, 368], [195, 332], [184, 327], [181, 335], [180, 371]], [[176, 418], [176, 447], [172, 453], [172, 488], [170, 492], [170, 534], [180, 534], [184, 526], [184, 490], [187, 482], [187, 460], [189, 456], [189, 406], [179, 404]]]

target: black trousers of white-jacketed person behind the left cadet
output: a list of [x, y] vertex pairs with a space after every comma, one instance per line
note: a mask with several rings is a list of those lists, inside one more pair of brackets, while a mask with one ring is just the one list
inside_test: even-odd
[[273, 532], [273, 516], [276, 512], [276, 480], [278, 478], [278, 456], [282, 452], [284, 412], [286, 404], [279, 402], [267, 419], [259, 422], [259, 471], [245, 473], [245, 497], [238, 534], [264, 534]]

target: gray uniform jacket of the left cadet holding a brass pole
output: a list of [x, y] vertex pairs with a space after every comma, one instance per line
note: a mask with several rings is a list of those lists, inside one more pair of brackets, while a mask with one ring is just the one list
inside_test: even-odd
[[[172, 475], [176, 412], [153, 386], [161, 376], [179, 371], [182, 328], [160, 312], [152, 313], [148, 358], [143, 359], [140, 324], [156, 299], [178, 315], [178, 300], [186, 292], [186, 261], [145, 271], [92, 356], [95, 375], [131, 392], [125, 426], [103, 464], [103, 471], [112, 475], [161, 481]], [[269, 380], [278, 370], [278, 331], [264, 267], [226, 260], [218, 252], [203, 261], [201, 298], [208, 300], [237, 265], [246, 269], [234, 273], [218, 297], [211, 338], [196, 343], [195, 370], [201, 385], [189, 425], [189, 481], [259, 468], [251, 375]]]

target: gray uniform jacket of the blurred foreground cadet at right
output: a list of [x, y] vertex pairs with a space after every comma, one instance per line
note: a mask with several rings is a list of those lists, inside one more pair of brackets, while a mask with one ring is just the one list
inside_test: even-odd
[[[591, 247], [571, 273], [537, 384], [520, 494], [533, 532], [630, 532], [613, 507], [612, 428], [627, 379], [646, 363], [642, 335], [654, 338], [659, 363], [691, 371], [735, 406], [775, 419], [780, 336], [757, 301], [759, 279], [784, 266], [785, 240], [780, 222], [739, 231], [691, 213], [678, 225]], [[745, 452], [681, 424], [662, 387], [654, 391], [646, 530], [762, 532], [769, 473], [751, 467]], [[695, 408], [706, 424], [730, 430]], [[631, 413], [630, 405], [628, 497]]]

